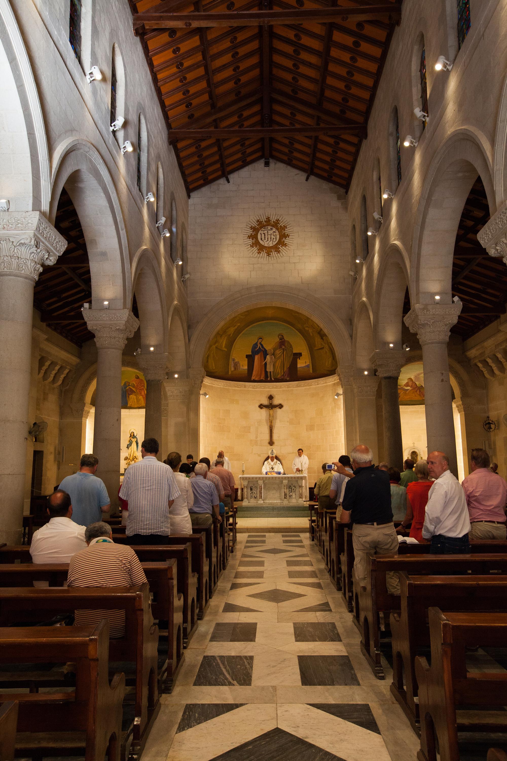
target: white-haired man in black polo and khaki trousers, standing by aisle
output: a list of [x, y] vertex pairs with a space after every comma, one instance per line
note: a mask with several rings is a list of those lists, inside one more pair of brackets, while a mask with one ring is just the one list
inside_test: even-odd
[[[398, 555], [398, 537], [392, 522], [391, 486], [385, 470], [375, 470], [373, 453], [365, 444], [358, 444], [350, 453], [353, 473], [345, 486], [341, 523], [352, 521], [354, 572], [364, 584], [369, 558], [375, 555]], [[340, 463], [337, 470], [344, 468]], [[345, 470], [345, 469], [344, 469]], [[400, 594], [398, 574], [387, 573], [391, 594]]]

